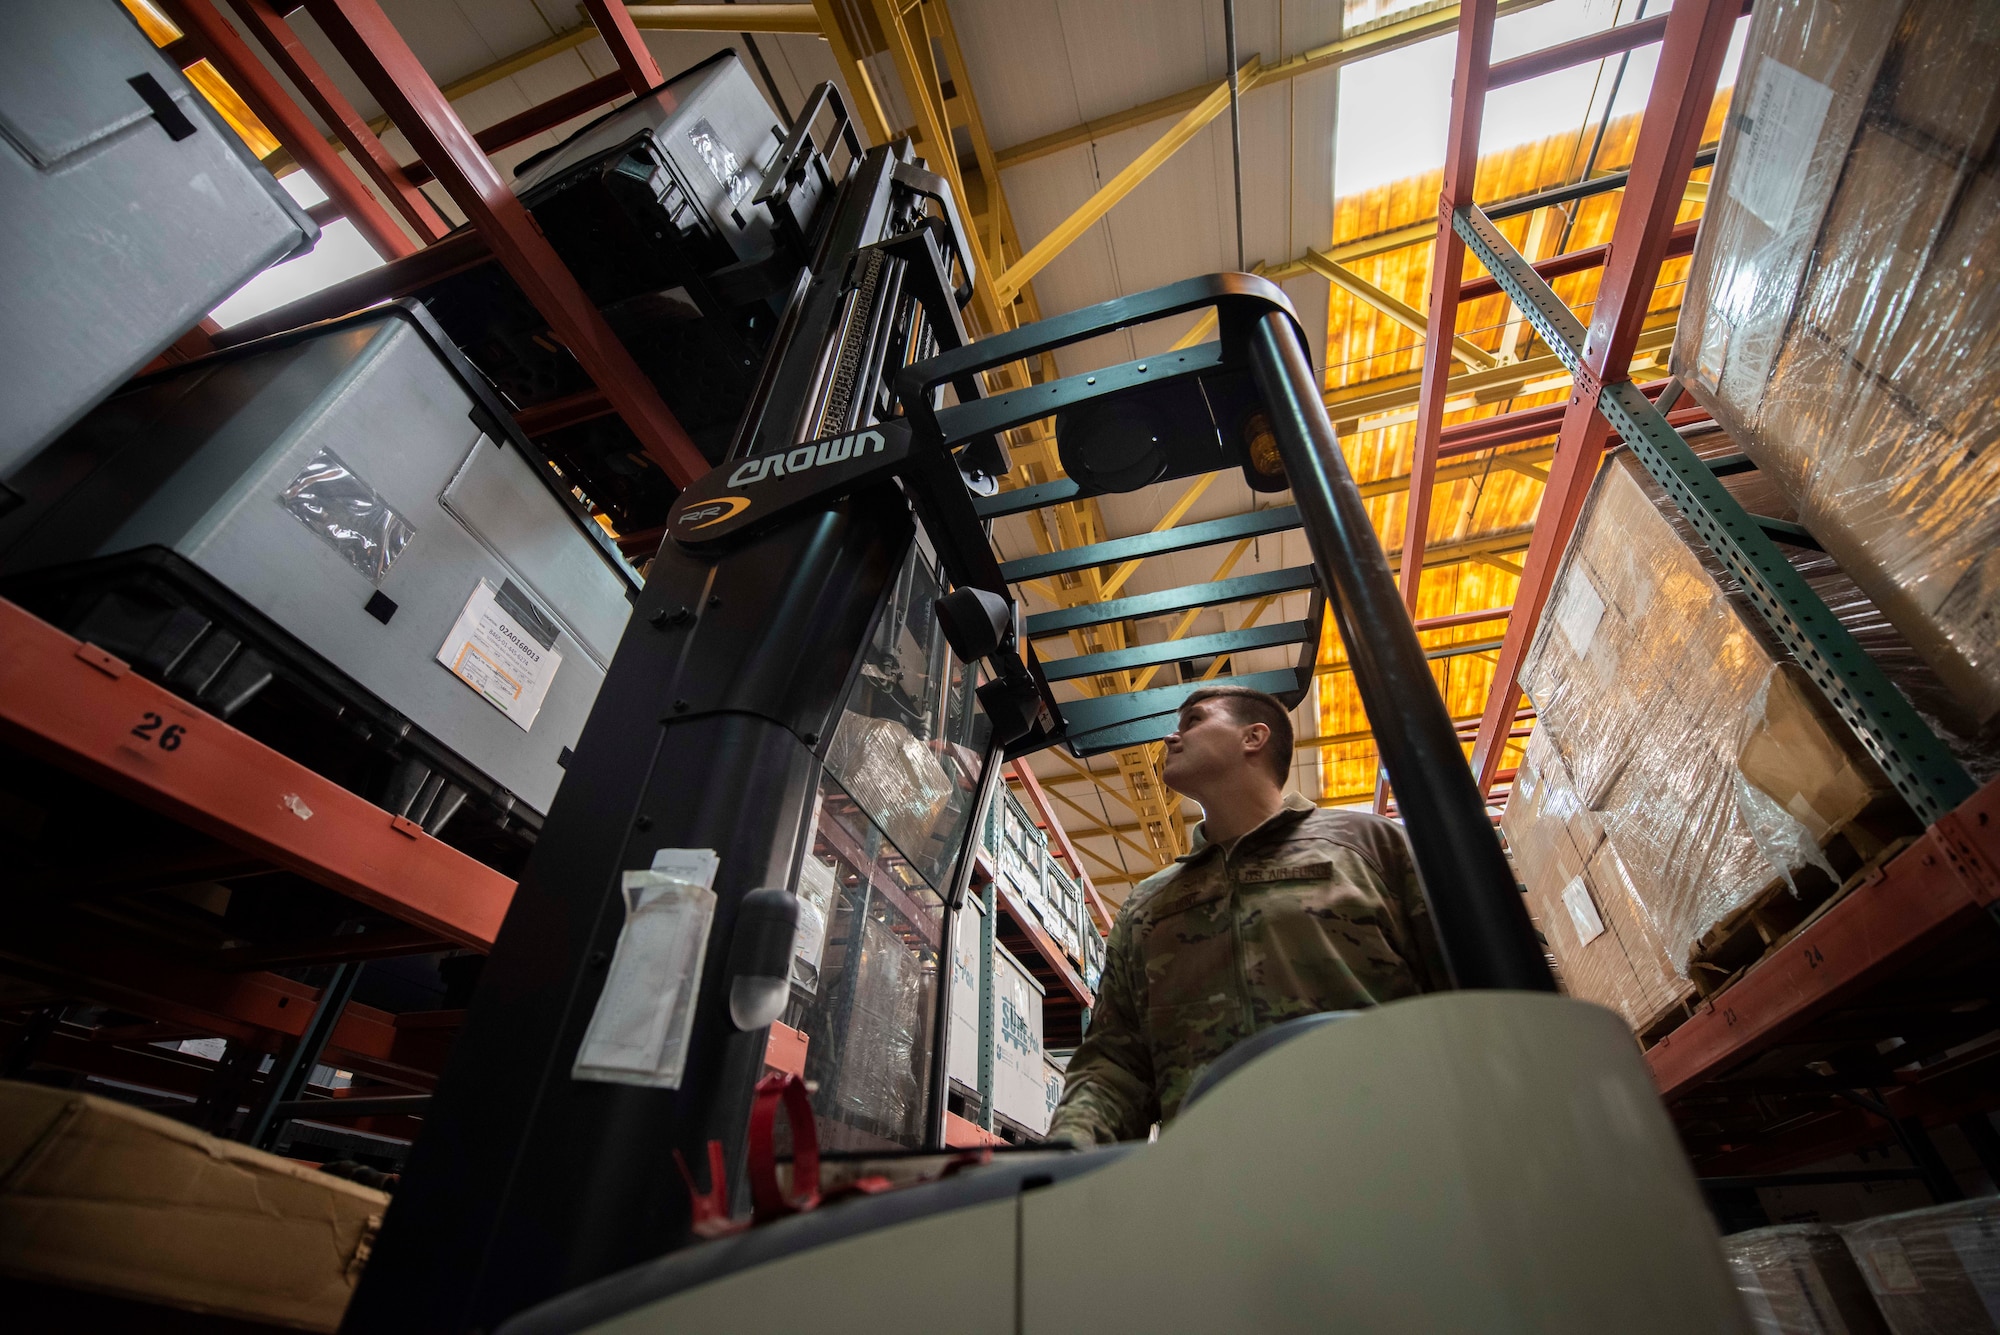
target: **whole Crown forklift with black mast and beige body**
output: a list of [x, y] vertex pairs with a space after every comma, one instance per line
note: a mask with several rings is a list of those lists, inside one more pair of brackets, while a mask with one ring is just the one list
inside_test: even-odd
[[[1284, 294], [1214, 274], [972, 342], [950, 188], [906, 140], [836, 174], [842, 140], [824, 86], [730, 182], [738, 228], [754, 188], [806, 260], [672, 504], [342, 1329], [1748, 1331], [1632, 1035], [1556, 995]], [[1214, 342], [986, 388], [1208, 312]], [[1000, 490], [1046, 418], [1066, 476]], [[1012, 594], [996, 520], [1230, 468], [1290, 496], [1240, 524], [1302, 530], [1308, 568]], [[1254, 644], [1296, 666], [1238, 679], [1296, 703], [1332, 614], [1452, 989], [1248, 1039], [1154, 1143], [946, 1149], [948, 933], [1002, 765], [1160, 739], [1194, 689], [1062, 703], [1188, 644], [1036, 644], [1284, 592], [1310, 616]], [[806, 1079], [766, 1075], [780, 1019]]]

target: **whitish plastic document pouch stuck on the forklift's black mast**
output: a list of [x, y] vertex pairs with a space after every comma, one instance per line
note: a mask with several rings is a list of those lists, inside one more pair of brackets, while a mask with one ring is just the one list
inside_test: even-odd
[[660, 849], [626, 871], [626, 923], [572, 1079], [680, 1089], [702, 955], [716, 915], [712, 849]]

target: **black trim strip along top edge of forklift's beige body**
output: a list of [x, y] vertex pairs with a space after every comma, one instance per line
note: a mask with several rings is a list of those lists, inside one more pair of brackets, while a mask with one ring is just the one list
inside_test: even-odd
[[986, 1205], [1022, 1191], [1046, 1187], [1070, 1177], [1082, 1177], [1138, 1149], [1102, 1145], [1086, 1151], [1052, 1151], [1048, 1155], [1008, 1155], [986, 1167], [966, 1169], [922, 1187], [904, 1187], [884, 1195], [864, 1195], [840, 1205], [828, 1205], [804, 1215], [766, 1223], [764, 1227], [698, 1243], [682, 1251], [634, 1265], [592, 1285], [564, 1293], [540, 1307], [512, 1317], [494, 1335], [572, 1335], [620, 1317], [636, 1307], [712, 1283], [752, 1265], [768, 1265], [812, 1247], [826, 1247], [858, 1233], [888, 1229], [926, 1215]]

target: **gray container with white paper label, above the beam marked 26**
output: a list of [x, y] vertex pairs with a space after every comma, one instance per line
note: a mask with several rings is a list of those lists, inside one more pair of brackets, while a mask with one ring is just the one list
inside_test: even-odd
[[[636, 574], [528, 450], [422, 308], [382, 306], [100, 406], [16, 474], [0, 572], [166, 550], [546, 813]], [[560, 654], [526, 729], [438, 662], [482, 582]]]

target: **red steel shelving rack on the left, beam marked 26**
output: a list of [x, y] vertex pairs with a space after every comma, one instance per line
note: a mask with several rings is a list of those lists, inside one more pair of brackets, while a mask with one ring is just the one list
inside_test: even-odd
[[[616, 412], [676, 486], [706, 472], [706, 460], [658, 390], [488, 160], [490, 152], [666, 82], [622, 4], [590, 0], [586, 6], [596, 34], [618, 60], [616, 76], [564, 92], [474, 136], [376, 0], [314, 0], [312, 18], [416, 146], [418, 162], [398, 164], [298, 40], [284, 18], [294, 6], [224, 2], [304, 102], [334, 128], [358, 172], [264, 68], [222, 16], [218, 0], [162, 0], [160, 8], [180, 28], [166, 56], [182, 68], [208, 60], [326, 190], [328, 202], [312, 210], [314, 218], [350, 218], [386, 264], [226, 334], [202, 322], [176, 344], [170, 360], [362, 310], [498, 260], [594, 382], [578, 402], [534, 408], [530, 430], [542, 434]], [[430, 180], [472, 226], [450, 230], [418, 188]], [[390, 218], [370, 182], [418, 240]], [[390, 1013], [350, 1001], [356, 965], [446, 949], [484, 953], [514, 895], [508, 875], [4, 600], [0, 745], [30, 765], [46, 765], [52, 781], [74, 781], [76, 791], [66, 789], [72, 805], [92, 809], [110, 829], [136, 829], [144, 845], [130, 849], [108, 841], [110, 847], [92, 849], [110, 855], [102, 865], [82, 859], [70, 869], [74, 883], [62, 887], [68, 893], [60, 897], [60, 911], [16, 903], [0, 957], [16, 979], [62, 1003], [44, 1005], [0, 1033], [0, 1073], [18, 1075], [40, 1061], [136, 1089], [194, 1097], [196, 1119], [214, 1127], [230, 1119], [238, 1099], [248, 1099], [244, 1125], [262, 1127], [264, 1143], [284, 1119], [306, 1111], [314, 1121], [392, 1139], [414, 1137], [420, 1123], [412, 1117], [428, 1103], [464, 1011]], [[332, 891], [350, 903], [350, 921], [320, 939], [214, 949], [184, 933], [176, 937], [174, 923], [164, 931], [160, 923], [138, 923], [142, 929], [134, 931], [132, 921], [118, 921], [124, 909], [106, 905], [102, 893], [162, 877], [196, 883], [266, 873], [290, 873]], [[320, 987], [274, 971], [298, 973], [314, 965], [332, 965], [332, 977]], [[64, 1023], [68, 1001], [140, 1021]], [[184, 1037], [224, 1037], [232, 1049], [222, 1061], [174, 1051], [174, 1041]], [[798, 1047], [798, 1035], [778, 1025], [766, 1061], [796, 1069]], [[258, 1057], [270, 1065], [264, 1079]], [[334, 1091], [334, 1097], [308, 1095], [306, 1077], [318, 1063], [352, 1069], [358, 1079], [376, 1083]], [[214, 1099], [228, 1107], [202, 1105]]]

